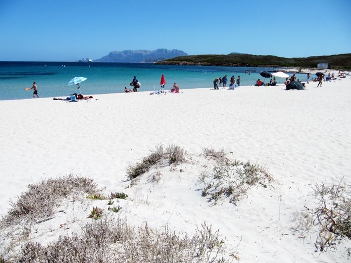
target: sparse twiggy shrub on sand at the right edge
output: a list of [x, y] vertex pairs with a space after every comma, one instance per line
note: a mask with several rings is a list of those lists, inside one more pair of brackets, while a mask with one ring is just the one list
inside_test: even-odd
[[315, 207], [305, 207], [293, 231], [302, 237], [316, 233], [315, 252], [335, 252], [344, 239], [351, 240], [351, 185], [344, 178], [338, 184], [316, 184], [313, 194]]

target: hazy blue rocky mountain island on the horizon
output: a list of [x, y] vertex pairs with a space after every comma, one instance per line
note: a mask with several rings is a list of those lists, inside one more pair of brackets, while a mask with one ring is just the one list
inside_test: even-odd
[[156, 62], [186, 55], [188, 54], [181, 50], [124, 50], [112, 51], [100, 59], [95, 59], [94, 62]]

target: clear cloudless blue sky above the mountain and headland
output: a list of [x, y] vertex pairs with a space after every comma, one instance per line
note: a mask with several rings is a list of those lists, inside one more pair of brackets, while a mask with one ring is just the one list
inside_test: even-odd
[[0, 0], [0, 60], [351, 53], [351, 0]]

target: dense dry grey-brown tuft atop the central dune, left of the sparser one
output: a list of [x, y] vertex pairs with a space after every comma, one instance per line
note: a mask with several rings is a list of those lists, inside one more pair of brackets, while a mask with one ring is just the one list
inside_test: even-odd
[[134, 165], [131, 163], [127, 166], [127, 175], [129, 179], [135, 179], [141, 174], [148, 172], [151, 166], [156, 165], [161, 160], [168, 160], [168, 163], [180, 163], [185, 161], [185, 151], [183, 148], [180, 148], [177, 145], [170, 145], [163, 148], [163, 145], [156, 146], [155, 151], [152, 151], [151, 154], [141, 162], [138, 162]]

